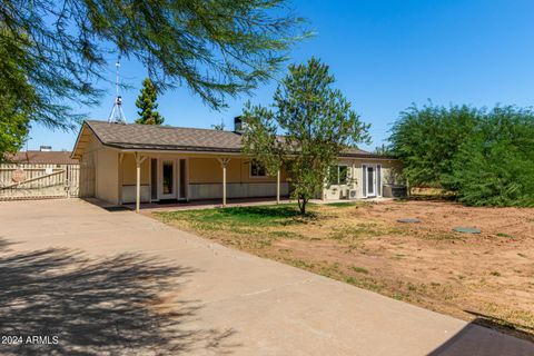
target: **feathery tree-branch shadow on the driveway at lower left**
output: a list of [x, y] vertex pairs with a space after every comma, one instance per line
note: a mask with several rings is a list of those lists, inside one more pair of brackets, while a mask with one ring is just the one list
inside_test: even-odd
[[[198, 329], [198, 300], [179, 300], [189, 267], [141, 254], [95, 259], [69, 249], [10, 253], [0, 238], [0, 335], [52, 345], [0, 345], [2, 355], [230, 353], [234, 330]], [[58, 337], [53, 345], [52, 336]]]

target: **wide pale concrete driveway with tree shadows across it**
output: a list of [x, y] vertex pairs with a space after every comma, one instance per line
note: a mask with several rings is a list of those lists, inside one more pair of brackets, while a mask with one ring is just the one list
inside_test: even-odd
[[528, 342], [77, 199], [0, 202], [0, 335], [24, 337], [0, 345], [8, 355], [534, 355]]

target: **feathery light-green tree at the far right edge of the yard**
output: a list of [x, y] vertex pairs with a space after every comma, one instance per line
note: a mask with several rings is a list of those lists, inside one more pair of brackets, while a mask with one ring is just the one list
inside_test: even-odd
[[496, 107], [459, 146], [444, 186], [469, 206], [534, 206], [534, 112]]

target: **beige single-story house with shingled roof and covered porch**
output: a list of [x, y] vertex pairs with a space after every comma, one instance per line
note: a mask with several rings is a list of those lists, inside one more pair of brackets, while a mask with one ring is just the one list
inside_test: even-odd
[[[80, 161], [81, 197], [111, 204], [277, 197], [290, 194], [285, 171], [269, 177], [241, 149], [236, 130], [88, 120], [72, 150]], [[323, 199], [380, 197], [394, 182], [395, 159], [350, 149], [339, 157]], [[83, 188], [82, 188], [83, 187]], [[83, 190], [83, 191], [81, 191]]]

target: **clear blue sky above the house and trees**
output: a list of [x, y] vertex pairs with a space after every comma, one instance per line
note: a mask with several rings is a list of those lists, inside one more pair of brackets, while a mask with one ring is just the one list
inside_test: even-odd
[[[398, 112], [413, 102], [534, 103], [532, 0], [294, 0], [293, 8], [317, 34], [291, 51], [290, 62], [316, 56], [330, 66], [337, 88], [372, 123], [373, 144], [362, 146], [365, 149], [380, 146]], [[109, 62], [113, 79], [115, 59]], [[121, 75], [132, 86], [122, 93], [127, 120], [132, 122], [146, 70], [123, 61]], [[159, 111], [172, 126], [209, 128], [224, 120], [231, 127], [246, 100], [270, 103], [275, 86], [263, 86], [251, 98], [229, 100], [224, 111], [209, 109], [181, 88], [159, 98]], [[99, 107], [81, 108], [90, 118], [106, 120], [111, 111], [115, 88], [102, 88], [108, 96]], [[76, 132], [36, 126], [28, 148], [51, 145], [70, 150], [75, 139]]]

